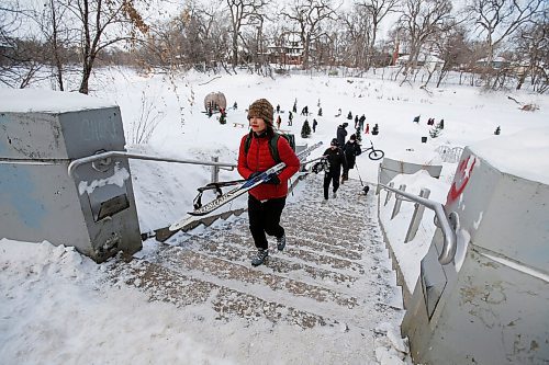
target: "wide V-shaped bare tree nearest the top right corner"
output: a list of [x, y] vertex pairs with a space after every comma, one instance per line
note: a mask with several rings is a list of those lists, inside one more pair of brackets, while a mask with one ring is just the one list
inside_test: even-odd
[[523, 25], [529, 23], [547, 0], [470, 0], [467, 13], [484, 35], [486, 65], [491, 66], [494, 50]]

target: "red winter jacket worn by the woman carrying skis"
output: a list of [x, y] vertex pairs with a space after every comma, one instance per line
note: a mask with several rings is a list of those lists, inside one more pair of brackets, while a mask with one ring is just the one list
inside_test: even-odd
[[[253, 137], [248, 153], [244, 152], [244, 145], [246, 144], [248, 135], [242, 137], [240, 149], [238, 152], [238, 173], [244, 179], [248, 179], [254, 172], [262, 172], [277, 164], [277, 162], [272, 159], [271, 151], [269, 149], [269, 138], [266, 135], [258, 137], [255, 133], [251, 135]], [[251, 189], [249, 194], [258, 201], [287, 196], [288, 180], [300, 170], [300, 160], [290, 147], [288, 140], [280, 137], [277, 146], [280, 160], [285, 163], [285, 168], [278, 175], [280, 184], [273, 185], [264, 183]]]

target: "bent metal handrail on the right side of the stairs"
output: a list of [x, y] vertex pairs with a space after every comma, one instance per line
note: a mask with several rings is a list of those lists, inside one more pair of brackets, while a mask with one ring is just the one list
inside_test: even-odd
[[386, 186], [383, 184], [379, 184], [382, 189], [392, 191], [395, 194], [402, 195], [411, 201], [414, 201], [418, 204], [422, 204], [426, 206], [427, 208], [432, 209], [435, 212], [435, 215], [437, 217], [438, 224], [440, 225], [440, 229], [442, 230], [444, 235], [444, 247], [442, 247], [442, 252], [440, 252], [440, 255], [438, 256], [438, 262], [442, 265], [447, 265], [450, 262], [452, 262], [453, 256], [456, 255], [456, 249], [457, 249], [457, 238], [456, 238], [456, 231], [452, 229], [450, 225], [450, 220], [446, 215], [446, 212], [444, 209], [442, 204], [427, 199], [425, 197], [421, 197], [411, 193], [403, 192], [399, 189], [394, 189], [391, 186]]

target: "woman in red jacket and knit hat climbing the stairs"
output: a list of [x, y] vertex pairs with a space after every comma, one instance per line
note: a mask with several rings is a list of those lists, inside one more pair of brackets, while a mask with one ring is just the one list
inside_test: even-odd
[[[272, 105], [266, 99], [256, 100], [248, 109], [251, 141], [246, 151], [248, 134], [245, 135], [238, 153], [238, 173], [244, 179], [250, 179], [278, 163], [269, 148], [269, 141], [274, 136], [272, 115]], [[278, 138], [277, 149], [285, 168], [268, 182], [251, 189], [248, 196], [249, 230], [258, 250], [251, 260], [254, 266], [262, 264], [269, 255], [266, 233], [277, 238], [279, 251], [285, 247], [280, 216], [288, 195], [288, 180], [300, 169], [300, 160], [285, 138]]]

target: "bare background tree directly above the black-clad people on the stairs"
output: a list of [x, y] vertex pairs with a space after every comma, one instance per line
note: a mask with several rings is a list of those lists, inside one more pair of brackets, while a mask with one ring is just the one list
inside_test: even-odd
[[303, 69], [309, 68], [311, 44], [324, 35], [322, 25], [327, 20], [335, 20], [336, 13], [329, 0], [296, 0], [282, 15], [295, 22], [303, 43]]

